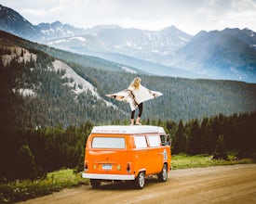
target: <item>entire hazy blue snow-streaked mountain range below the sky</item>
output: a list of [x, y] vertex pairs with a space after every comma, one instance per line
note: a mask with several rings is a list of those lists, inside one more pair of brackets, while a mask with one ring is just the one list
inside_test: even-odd
[[2, 31], [74, 53], [101, 57], [134, 72], [256, 83], [256, 33], [249, 29], [202, 31], [192, 36], [175, 26], [143, 31], [116, 25], [78, 29], [60, 21], [32, 25], [5, 6], [0, 6], [0, 17]]

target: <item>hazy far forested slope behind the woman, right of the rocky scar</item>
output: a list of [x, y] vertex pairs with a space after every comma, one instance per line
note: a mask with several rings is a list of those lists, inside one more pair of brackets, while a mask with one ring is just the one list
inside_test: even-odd
[[[128, 87], [135, 75], [124, 72], [88, 70], [72, 66], [81, 76], [90, 75], [92, 83], [102, 95]], [[171, 77], [141, 75], [141, 83], [164, 95], [144, 103], [144, 119], [185, 120], [202, 119], [219, 113], [250, 112], [256, 108], [256, 84], [231, 81], [187, 80]], [[108, 98], [106, 98], [108, 99]], [[122, 102], [116, 106], [129, 111]]]

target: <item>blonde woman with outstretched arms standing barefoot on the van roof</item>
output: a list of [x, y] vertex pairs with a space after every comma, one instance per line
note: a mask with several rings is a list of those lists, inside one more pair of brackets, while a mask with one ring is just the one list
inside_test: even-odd
[[121, 92], [111, 94], [111, 95], [106, 95], [112, 98], [115, 98], [116, 100], [119, 101], [124, 101], [129, 103], [129, 107], [131, 108], [131, 114], [130, 114], [130, 124], [134, 124], [134, 114], [135, 114], [135, 109], [138, 107], [139, 108], [139, 114], [136, 119], [135, 124], [141, 124], [141, 114], [142, 114], [142, 109], [143, 109], [143, 104], [142, 102], [146, 100], [153, 99], [158, 96], [162, 96], [163, 94], [160, 92], [155, 92], [151, 91], [144, 86], [141, 85], [141, 78], [136, 77], [132, 83], [128, 86], [128, 89], [123, 90]]

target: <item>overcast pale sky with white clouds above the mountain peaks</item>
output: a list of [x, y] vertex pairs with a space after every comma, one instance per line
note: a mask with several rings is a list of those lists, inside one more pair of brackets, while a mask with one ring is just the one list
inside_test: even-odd
[[182, 32], [249, 28], [256, 32], [256, 0], [0, 0], [32, 24], [68, 23], [78, 28], [119, 25]]

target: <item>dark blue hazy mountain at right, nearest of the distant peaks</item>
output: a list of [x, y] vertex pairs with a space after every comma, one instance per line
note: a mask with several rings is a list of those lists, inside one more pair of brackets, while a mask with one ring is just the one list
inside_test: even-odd
[[[247, 31], [247, 30], [245, 30]], [[173, 67], [193, 70], [204, 78], [255, 82], [256, 52], [227, 32], [202, 32], [175, 53]]]

